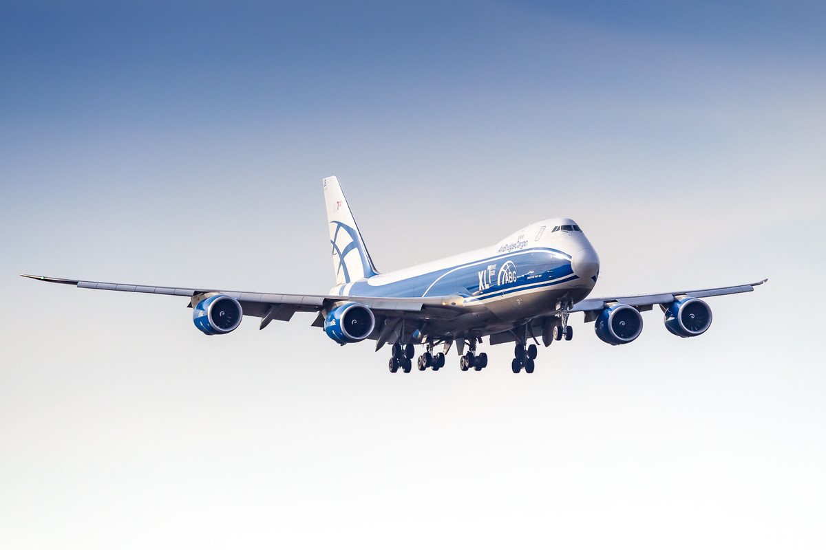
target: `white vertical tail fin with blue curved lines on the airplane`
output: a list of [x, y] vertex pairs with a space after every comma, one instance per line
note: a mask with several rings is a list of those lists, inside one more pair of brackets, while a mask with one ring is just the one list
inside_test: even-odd
[[327, 203], [327, 221], [330, 244], [333, 246], [335, 284], [351, 283], [363, 277], [377, 275], [373, 260], [358, 233], [356, 220], [335, 176], [325, 177], [324, 200]]

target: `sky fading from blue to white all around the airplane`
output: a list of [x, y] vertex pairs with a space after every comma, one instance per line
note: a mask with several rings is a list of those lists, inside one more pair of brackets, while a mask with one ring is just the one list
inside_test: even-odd
[[[68, 3], [0, 5], [2, 546], [826, 546], [822, 2]], [[595, 295], [770, 281], [515, 376], [17, 276], [325, 292], [334, 174], [379, 270], [569, 216]]]

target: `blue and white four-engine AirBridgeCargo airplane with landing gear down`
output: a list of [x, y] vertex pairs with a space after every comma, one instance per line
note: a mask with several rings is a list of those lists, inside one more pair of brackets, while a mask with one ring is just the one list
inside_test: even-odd
[[[596, 336], [612, 346], [636, 340], [641, 312], [659, 306], [668, 331], [700, 336], [711, 325], [702, 298], [751, 292], [765, 283], [680, 290], [660, 294], [588, 298], [600, 274], [600, 258], [572, 219], [545, 219], [475, 251], [414, 267], [380, 273], [373, 264], [338, 178], [322, 180], [327, 208], [335, 286], [329, 294], [263, 294], [210, 288], [177, 288], [102, 283], [21, 275], [82, 289], [169, 294], [189, 299], [192, 321], [209, 336], [228, 334], [244, 316], [259, 317], [259, 329], [294, 313], [316, 313], [313, 327], [344, 346], [376, 341], [391, 346], [388, 369], [409, 373], [415, 346], [423, 346], [419, 370], [439, 370], [455, 344], [459, 368], [480, 371], [487, 353], [477, 344], [513, 342], [511, 370], [533, 373], [539, 347], [570, 341], [572, 313], [593, 322]], [[533, 343], [532, 343], [533, 342]], [[442, 346], [437, 351], [437, 346]]]

